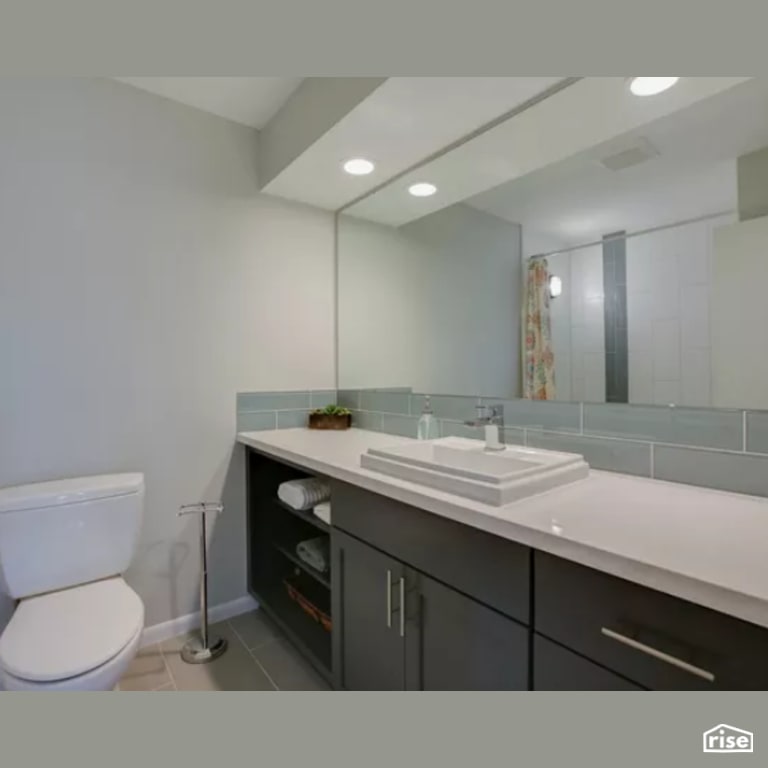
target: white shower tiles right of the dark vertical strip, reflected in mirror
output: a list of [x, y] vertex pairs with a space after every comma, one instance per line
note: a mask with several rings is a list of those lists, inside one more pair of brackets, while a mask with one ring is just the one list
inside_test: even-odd
[[712, 240], [732, 219], [627, 240], [630, 402], [712, 405]]

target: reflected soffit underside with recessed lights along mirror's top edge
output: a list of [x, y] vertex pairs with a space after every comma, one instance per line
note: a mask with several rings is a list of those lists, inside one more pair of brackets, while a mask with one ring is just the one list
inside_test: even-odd
[[[529, 175], [567, 163], [606, 142], [642, 134], [646, 126], [699, 103], [705, 105], [718, 94], [751, 79], [685, 77], [669, 91], [639, 98], [630, 93], [624, 77], [582, 78], [423, 167], [404, 174], [345, 212], [400, 226], [499, 185], [524, 181]], [[696, 121], [683, 126], [683, 133], [692, 147], [699, 145]], [[710, 146], [713, 142], [708, 141]], [[420, 181], [435, 184], [437, 194], [428, 198], [409, 195], [408, 186]], [[527, 190], [522, 197], [525, 194]]]

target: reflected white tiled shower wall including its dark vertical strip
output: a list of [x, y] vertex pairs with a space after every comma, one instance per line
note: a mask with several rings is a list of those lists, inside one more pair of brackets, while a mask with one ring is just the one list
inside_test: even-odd
[[714, 232], [734, 218], [547, 257], [563, 281], [551, 302], [557, 400], [712, 404]]

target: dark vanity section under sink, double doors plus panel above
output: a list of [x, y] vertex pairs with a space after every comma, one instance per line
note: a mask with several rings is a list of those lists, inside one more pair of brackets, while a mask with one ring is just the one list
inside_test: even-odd
[[346, 483], [331, 497], [339, 687], [528, 688], [528, 547]]

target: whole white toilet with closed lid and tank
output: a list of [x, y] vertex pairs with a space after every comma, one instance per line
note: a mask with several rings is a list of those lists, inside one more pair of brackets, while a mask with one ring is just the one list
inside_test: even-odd
[[0, 488], [0, 588], [19, 601], [0, 635], [0, 689], [115, 687], [144, 629], [121, 575], [143, 511], [139, 473]]

